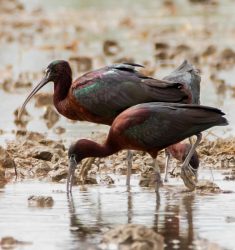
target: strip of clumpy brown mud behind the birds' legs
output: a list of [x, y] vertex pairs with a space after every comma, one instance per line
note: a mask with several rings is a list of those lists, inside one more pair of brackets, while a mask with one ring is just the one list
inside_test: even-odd
[[[105, 134], [94, 137], [99, 142], [104, 141]], [[1, 147], [0, 170], [2, 173], [2, 183], [15, 180], [15, 167], [17, 169], [17, 180], [45, 180], [65, 183], [68, 170], [67, 148], [62, 141], [47, 139], [43, 134], [29, 131], [18, 131], [16, 140], [7, 142], [6, 148]], [[234, 138], [208, 140], [204, 137], [197, 149], [200, 156], [199, 172], [203, 168], [225, 170], [225, 180], [235, 178], [235, 148]], [[133, 152], [133, 174], [151, 176], [152, 159], [144, 152]], [[99, 174], [121, 174], [126, 175], [127, 152], [120, 151], [118, 154], [94, 159], [87, 169], [87, 178], [83, 184], [97, 184], [96, 176]], [[90, 159], [83, 160], [86, 164]], [[158, 156], [159, 166], [164, 172], [165, 156], [164, 151]], [[173, 159], [172, 169], [176, 167], [175, 175], [179, 176], [180, 162]], [[78, 167], [79, 169], [79, 167]], [[178, 173], [177, 173], [178, 172]], [[79, 170], [76, 172], [76, 183], [82, 184], [79, 178]], [[148, 176], [149, 177], [149, 176]], [[106, 177], [101, 179], [101, 183], [113, 184], [112, 180]]]

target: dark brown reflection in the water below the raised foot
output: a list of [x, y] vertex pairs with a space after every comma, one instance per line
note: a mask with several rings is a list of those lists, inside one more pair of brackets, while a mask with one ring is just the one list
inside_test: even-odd
[[[195, 194], [183, 194], [172, 199], [172, 193], [165, 196], [164, 209], [156, 204], [153, 229], [164, 236], [164, 249], [188, 249], [193, 244], [193, 204]], [[173, 203], [172, 203], [173, 202]]]

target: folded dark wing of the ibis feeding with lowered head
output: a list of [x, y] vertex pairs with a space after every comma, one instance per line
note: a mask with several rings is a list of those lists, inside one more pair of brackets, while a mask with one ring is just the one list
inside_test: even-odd
[[223, 115], [199, 105], [140, 104], [120, 114], [112, 128], [146, 149], [163, 149], [210, 127], [226, 125]]

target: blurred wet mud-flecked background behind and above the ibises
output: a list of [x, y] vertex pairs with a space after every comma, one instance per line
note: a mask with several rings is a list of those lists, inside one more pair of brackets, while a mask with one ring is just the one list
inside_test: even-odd
[[[55, 59], [68, 60], [73, 77], [116, 62], [143, 64], [161, 78], [189, 60], [200, 69], [201, 103], [221, 108], [234, 134], [235, 17], [233, 0], [0, 0], [1, 141], [16, 128], [73, 138], [106, 131], [105, 126], [60, 117], [52, 105], [27, 106], [24, 122], [15, 110]], [[41, 92], [53, 93], [53, 84]], [[36, 108], [35, 108], [36, 105]], [[38, 107], [38, 108], [37, 108]]]

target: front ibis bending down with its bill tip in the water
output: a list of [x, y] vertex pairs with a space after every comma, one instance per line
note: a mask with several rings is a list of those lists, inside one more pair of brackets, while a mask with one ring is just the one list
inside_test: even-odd
[[[159, 150], [213, 127], [227, 125], [224, 113], [216, 108], [195, 104], [143, 103], [119, 114], [103, 144], [82, 139], [69, 148], [67, 192], [71, 192], [77, 164], [87, 157], [105, 157], [122, 149], [141, 150], [153, 158], [156, 191], [161, 184], [156, 157]], [[187, 168], [198, 140], [191, 147], [182, 168]]]

